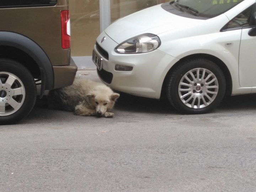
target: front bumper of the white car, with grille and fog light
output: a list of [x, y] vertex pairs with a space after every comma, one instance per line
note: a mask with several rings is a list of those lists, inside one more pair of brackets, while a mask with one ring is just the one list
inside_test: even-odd
[[[102, 39], [105, 40], [102, 42]], [[177, 59], [154, 50], [140, 54], [119, 54], [114, 51], [118, 44], [106, 33], [101, 33], [94, 52], [102, 59], [102, 68], [97, 70], [100, 79], [112, 89], [128, 94], [160, 98], [162, 84]], [[116, 65], [132, 67], [130, 71], [119, 71]]]

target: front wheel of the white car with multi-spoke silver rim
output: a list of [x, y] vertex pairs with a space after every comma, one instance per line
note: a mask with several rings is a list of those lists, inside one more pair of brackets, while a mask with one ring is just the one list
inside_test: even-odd
[[202, 114], [220, 104], [226, 83], [222, 70], [214, 62], [202, 58], [180, 63], [167, 77], [165, 88], [169, 102], [178, 111]]

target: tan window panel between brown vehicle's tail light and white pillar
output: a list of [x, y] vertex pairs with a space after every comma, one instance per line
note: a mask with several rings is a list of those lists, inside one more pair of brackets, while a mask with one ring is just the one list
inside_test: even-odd
[[100, 34], [100, 1], [69, 1], [71, 21], [71, 56], [92, 55]]

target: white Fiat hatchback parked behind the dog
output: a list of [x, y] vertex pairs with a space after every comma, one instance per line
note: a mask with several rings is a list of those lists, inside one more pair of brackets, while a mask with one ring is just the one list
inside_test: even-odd
[[224, 96], [256, 93], [255, 23], [255, 0], [167, 2], [108, 26], [92, 60], [114, 90], [207, 113]]

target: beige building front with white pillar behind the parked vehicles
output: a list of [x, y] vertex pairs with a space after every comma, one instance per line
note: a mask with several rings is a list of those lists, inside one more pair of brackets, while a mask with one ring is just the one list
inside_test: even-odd
[[71, 56], [79, 68], [94, 67], [92, 49], [97, 36], [118, 18], [171, 0], [69, 0]]

